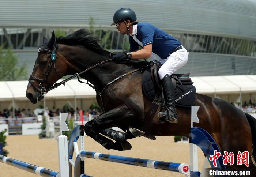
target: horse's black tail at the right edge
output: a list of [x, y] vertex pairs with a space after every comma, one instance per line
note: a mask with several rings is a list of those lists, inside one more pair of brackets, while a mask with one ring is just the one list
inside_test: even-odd
[[252, 158], [256, 162], [256, 119], [250, 114], [245, 113], [245, 116], [250, 124], [252, 132]]

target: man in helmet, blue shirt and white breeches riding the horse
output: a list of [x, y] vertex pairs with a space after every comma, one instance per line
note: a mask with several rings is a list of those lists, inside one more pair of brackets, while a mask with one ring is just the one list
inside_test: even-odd
[[[121, 8], [116, 11], [113, 17], [116, 29], [121, 34], [129, 35], [130, 52], [113, 52], [112, 59], [116, 61], [129, 59], [142, 59], [151, 57], [151, 53], [157, 54], [154, 61], [162, 64], [158, 74], [162, 81], [167, 98], [167, 110], [159, 112], [159, 121], [169, 121], [177, 123], [177, 113], [175, 109], [174, 85], [170, 75], [184, 66], [188, 61], [188, 52], [181, 43], [165, 33], [163, 30], [150, 23], [138, 23], [136, 14], [129, 8]], [[143, 49], [139, 50], [139, 46]], [[153, 55], [154, 55], [153, 53]]]

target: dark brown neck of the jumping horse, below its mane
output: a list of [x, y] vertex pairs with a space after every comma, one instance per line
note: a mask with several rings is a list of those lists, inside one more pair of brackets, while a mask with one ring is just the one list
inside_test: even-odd
[[[69, 51], [74, 52], [74, 50]], [[76, 51], [77, 52], [75, 55], [72, 56], [69, 54], [67, 57], [65, 57], [68, 62], [67, 75], [82, 72], [95, 64], [109, 59], [108, 52], [97, 54], [88, 49], [84, 50], [84, 48], [83, 50], [80, 48]], [[97, 90], [101, 90], [107, 83], [117, 78], [121, 74], [124, 74], [124, 71], [128, 69], [129, 67], [127, 66], [118, 65], [113, 61], [109, 61], [91, 69], [80, 77], [92, 83]]]

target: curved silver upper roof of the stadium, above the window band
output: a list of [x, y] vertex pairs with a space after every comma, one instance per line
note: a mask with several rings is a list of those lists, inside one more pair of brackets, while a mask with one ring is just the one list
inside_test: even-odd
[[[139, 22], [164, 30], [256, 39], [255, 0], [0, 0], [0, 27], [110, 27], [113, 14], [132, 8]], [[94, 22], [91, 19], [94, 19]], [[114, 28], [114, 27], [113, 27]]]

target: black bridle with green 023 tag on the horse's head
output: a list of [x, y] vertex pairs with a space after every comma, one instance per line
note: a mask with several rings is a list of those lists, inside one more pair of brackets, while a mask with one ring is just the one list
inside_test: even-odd
[[[44, 47], [40, 46], [38, 48], [38, 53], [40, 52], [45, 52], [45, 53], [50, 53], [51, 54], [51, 63], [48, 64], [48, 69], [46, 70], [45, 76], [43, 79], [37, 78], [33, 75], [30, 75], [29, 77], [29, 83], [34, 87], [34, 89], [36, 89], [39, 93], [41, 93], [42, 96], [45, 96], [46, 93], [48, 92], [46, 87], [43, 86], [43, 84], [46, 82], [47, 83], [47, 79], [48, 79], [48, 75], [50, 72], [50, 69], [52, 68], [52, 65], [54, 67], [54, 71], [56, 72], [56, 74], [59, 76], [59, 74], [56, 71], [56, 67], [55, 67], [55, 60], [56, 60], [56, 53], [57, 53], [57, 43], [55, 42], [53, 45], [53, 50], [49, 50], [49, 49], [45, 49]], [[60, 76], [59, 76], [60, 77]], [[31, 80], [34, 81], [39, 81], [39, 87], [35, 86], [35, 84], [33, 84], [33, 82]]]

